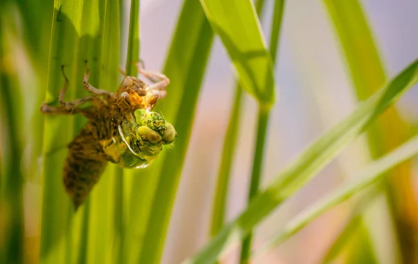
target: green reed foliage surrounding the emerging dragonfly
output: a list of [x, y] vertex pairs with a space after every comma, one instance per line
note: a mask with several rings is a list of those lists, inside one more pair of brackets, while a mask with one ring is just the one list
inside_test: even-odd
[[[259, 11], [263, 3], [256, 2]], [[382, 118], [378, 117], [416, 83], [418, 62], [384, 86], [384, 66], [362, 7], [357, 1], [332, 0], [325, 0], [325, 6], [346, 55], [357, 97], [364, 102], [278, 173], [266, 189], [258, 189], [265, 160], [264, 145], [268, 143], [268, 116], [275, 102], [274, 94], [277, 94], [274, 61], [281, 20], [286, 15], [284, 1], [275, 0], [270, 4], [274, 5], [274, 15], [268, 47], [258, 18], [260, 14], [256, 13], [251, 1], [184, 1], [162, 70], [171, 79], [170, 93], [157, 106], [157, 111], [176, 127], [179, 135], [176, 146], [170, 153], [162, 153], [147, 169], [126, 171], [110, 164], [86, 204], [75, 213], [64, 192], [61, 175], [67, 153], [65, 145], [75, 137], [85, 120], [73, 116], [43, 116], [39, 107], [44, 100], [56, 102], [64, 81], [61, 65], [70, 79], [66, 100], [85, 95], [81, 88], [84, 61], [88, 61], [91, 70], [89, 82], [107, 91], [115, 91], [121, 80], [118, 67], [124, 61], [120, 58], [122, 50], [127, 49], [127, 74], [137, 75], [134, 62], [139, 61], [140, 56], [140, 1], [48, 0], [42, 4], [36, 0], [1, 1], [0, 262], [161, 262], [215, 36], [222, 41], [242, 89], [238, 87], [235, 94], [215, 190], [211, 226], [214, 238], [185, 263], [217, 261], [231, 243], [245, 240], [254, 227], [304, 187], [366, 128], [373, 157], [393, 150], [392, 153], [371, 163], [355, 184], [338, 189], [323, 203], [308, 208], [304, 217], [288, 222], [290, 228], [284, 228], [284, 233], [273, 237], [267, 246], [273, 247], [277, 241], [290, 238], [332, 205], [367, 186], [383, 189], [376, 179], [383, 178], [382, 173], [415, 155], [418, 146], [415, 140], [397, 148], [409, 132], [408, 125], [394, 109], [386, 111]], [[121, 45], [121, 32], [127, 31], [127, 26], [121, 23], [124, 8], [130, 8], [127, 47]], [[35, 76], [32, 78], [35, 81], [29, 82], [27, 75]], [[256, 146], [249, 186], [251, 201], [238, 218], [224, 224], [233, 150], [239, 136], [242, 93], [252, 96], [259, 107], [258, 134], [249, 142]], [[372, 124], [375, 120], [377, 123]], [[392, 172], [388, 171], [384, 185], [405, 263], [417, 258], [417, 251], [411, 251], [416, 245], [410, 239], [418, 228], [410, 170], [410, 164], [405, 162]], [[401, 175], [402, 180], [394, 180], [394, 175]], [[42, 187], [42, 201], [29, 198], [31, 203], [24, 203], [28, 185]], [[362, 203], [364, 206], [371, 202], [364, 199]], [[25, 234], [25, 222], [29, 220], [24, 218], [24, 211], [28, 206], [42, 211], [40, 234], [36, 237]], [[339, 237], [341, 240], [336, 240], [326, 259], [334, 258], [341, 248], [351, 247], [345, 243], [348, 235], [344, 234], [361, 223], [359, 217], [348, 222]], [[367, 230], [357, 233], [355, 239], [365, 245], [362, 256], [366, 257], [357, 261], [376, 261]], [[247, 240], [246, 247], [242, 262], [251, 257], [251, 240]], [[352, 252], [355, 254], [356, 249]], [[350, 259], [353, 260], [347, 258], [346, 261]]]

